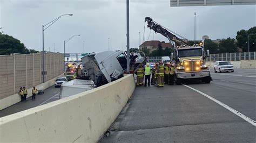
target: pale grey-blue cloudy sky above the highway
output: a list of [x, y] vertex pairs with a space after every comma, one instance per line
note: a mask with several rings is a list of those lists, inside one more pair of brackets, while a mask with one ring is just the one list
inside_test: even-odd
[[[170, 0], [130, 0], [130, 47], [139, 46], [144, 33], [144, 18], [151, 17], [170, 30], [194, 39], [194, 12], [197, 13], [196, 39], [208, 35], [211, 39], [235, 38], [236, 32], [256, 25], [256, 5], [170, 7]], [[42, 25], [63, 14], [44, 32], [45, 49], [64, 52], [64, 40], [80, 34], [66, 43], [66, 53], [99, 52], [126, 49], [125, 0], [0, 0], [0, 27], [4, 34], [21, 40], [29, 49], [42, 50]], [[164, 40], [160, 34], [150, 34], [146, 40]]]

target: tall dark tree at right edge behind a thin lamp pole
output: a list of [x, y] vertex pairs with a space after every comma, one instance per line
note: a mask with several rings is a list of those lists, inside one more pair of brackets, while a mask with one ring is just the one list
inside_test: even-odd
[[256, 26], [251, 27], [249, 30], [240, 30], [237, 32], [237, 46], [242, 49], [243, 52], [248, 52], [248, 34], [250, 40], [250, 52], [256, 51]]

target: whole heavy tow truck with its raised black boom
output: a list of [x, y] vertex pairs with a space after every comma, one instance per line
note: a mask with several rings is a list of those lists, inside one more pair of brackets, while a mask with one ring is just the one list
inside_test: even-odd
[[210, 51], [204, 50], [204, 43], [189, 46], [185, 40], [178, 38], [174, 32], [168, 28], [154, 22], [150, 17], [145, 18], [147, 27], [156, 33], [160, 33], [166, 37], [173, 47], [171, 60], [176, 64], [174, 81], [177, 85], [184, 81], [201, 80], [210, 83], [212, 78], [205, 59], [210, 55]]

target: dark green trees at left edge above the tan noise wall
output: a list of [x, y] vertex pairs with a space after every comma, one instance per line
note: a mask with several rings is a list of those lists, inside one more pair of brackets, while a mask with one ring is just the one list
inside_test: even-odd
[[10, 55], [11, 53], [29, 54], [27, 49], [18, 39], [6, 35], [0, 35], [0, 55]]

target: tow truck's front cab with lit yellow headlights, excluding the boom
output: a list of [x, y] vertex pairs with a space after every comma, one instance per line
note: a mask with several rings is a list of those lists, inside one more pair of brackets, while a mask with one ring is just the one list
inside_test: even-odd
[[171, 58], [176, 61], [176, 83], [181, 84], [181, 81], [186, 79], [199, 79], [210, 83], [210, 70], [208, 65], [205, 65], [207, 56], [209, 56], [209, 51], [205, 52], [201, 46], [177, 48], [171, 54]]

